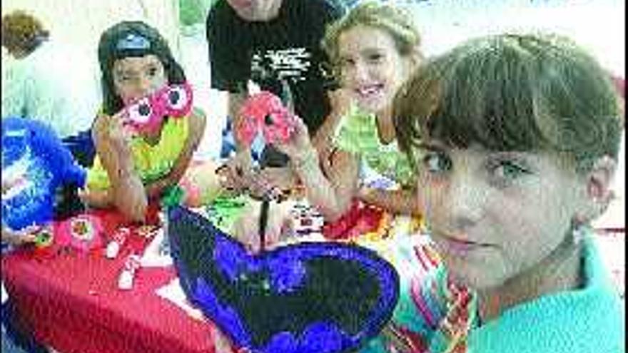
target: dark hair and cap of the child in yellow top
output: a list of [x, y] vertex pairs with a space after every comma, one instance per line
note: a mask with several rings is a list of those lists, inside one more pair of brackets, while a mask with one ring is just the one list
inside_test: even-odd
[[129, 56], [155, 55], [163, 64], [168, 83], [186, 81], [183, 68], [175, 61], [166, 39], [142, 21], [122, 21], [103, 32], [98, 43], [98, 63], [101, 66], [103, 113], [114, 114], [123, 107], [113, 88], [113, 63]]

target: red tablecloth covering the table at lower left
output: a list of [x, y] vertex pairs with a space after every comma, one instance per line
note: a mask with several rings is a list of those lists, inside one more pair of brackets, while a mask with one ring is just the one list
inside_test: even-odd
[[[107, 232], [120, 218], [94, 213]], [[141, 268], [133, 289], [118, 290], [118, 275], [131, 249], [115, 260], [102, 250], [47, 255], [4, 255], [2, 277], [19, 314], [36, 339], [64, 353], [214, 352], [212, 326], [189, 317], [156, 295], [176, 273], [173, 267]]]

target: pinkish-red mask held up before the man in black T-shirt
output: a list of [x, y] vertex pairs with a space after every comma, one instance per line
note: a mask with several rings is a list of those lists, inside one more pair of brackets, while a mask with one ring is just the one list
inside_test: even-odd
[[287, 142], [294, 131], [294, 117], [278, 96], [261, 91], [246, 99], [240, 109], [240, 124], [236, 127], [238, 140], [246, 145], [261, 131], [266, 143]]

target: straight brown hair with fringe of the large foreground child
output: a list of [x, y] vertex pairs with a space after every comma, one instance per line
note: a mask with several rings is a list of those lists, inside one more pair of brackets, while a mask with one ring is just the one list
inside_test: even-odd
[[467, 148], [567, 152], [579, 170], [617, 159], [617, 91], [597, 61], [550, 34], [502, 34], [467, 41], [427, 61], [393, 103], [400, 149], [435, 138]]

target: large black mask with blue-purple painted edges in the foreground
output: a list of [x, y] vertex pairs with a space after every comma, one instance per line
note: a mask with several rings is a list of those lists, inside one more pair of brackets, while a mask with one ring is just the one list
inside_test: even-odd
[[260, 353], [355, 352], [392, 316], [399, 277], [372, 250], [304, 242], [249, 255], [201, 215], [168, 208], [183, 291], [238, 348]]

